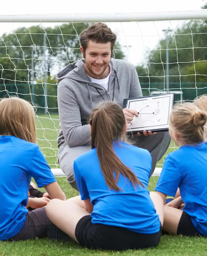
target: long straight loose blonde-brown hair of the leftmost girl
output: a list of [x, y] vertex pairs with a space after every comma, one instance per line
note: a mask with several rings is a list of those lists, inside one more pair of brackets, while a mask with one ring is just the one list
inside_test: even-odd
[[34, 109], [26, 100], [10, 97], [0, 101], [0, 135], [12, 135], [36, 143]]

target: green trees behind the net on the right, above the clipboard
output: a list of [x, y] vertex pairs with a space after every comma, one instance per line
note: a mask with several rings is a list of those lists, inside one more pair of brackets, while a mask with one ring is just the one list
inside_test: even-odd
[[[192, 20], [168, 36], [169, 80], [173, 89], [183, 88], [184, 99], [193, 99], [205, 93], [203, 84], [207, 74], [207, 26], [204, 20]], [[174, 34], [174, 31], [173, 31]], [[139, 76], [148, 76], [150, 89], [164, 90], [166, 86], [166, 38], [160, 40], [157, 50], [148, 51], [147, 67], [136, 67]], [[141, 81], [141, 80], [140, 80]], [[145, 78], [147, 82], [147, 79]], [[153, 83], [157, 83], [153, 88]], [[152, 84], [151, 84], [152, 83]], [[182, 85], [182, 83], [185, 83]], [[165, 87], [166, 88], [166, 87]], [[192, 88], [192, 89], [191, 89]]]

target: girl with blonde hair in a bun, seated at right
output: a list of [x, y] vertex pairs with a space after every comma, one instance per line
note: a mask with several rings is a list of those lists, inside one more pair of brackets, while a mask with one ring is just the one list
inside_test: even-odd
[[[170, 114], [169, 133], [180, 148], [166, 157], [155, 190], [165, 202], [166, 195], [175, 196], [180, 188], [175, 208], [164, 207], [163, 229], [172, 234], [207, 236], [206, 119], [193, 103], [179, 104]], [[183, 210], [177, 209], [182, 204]]]

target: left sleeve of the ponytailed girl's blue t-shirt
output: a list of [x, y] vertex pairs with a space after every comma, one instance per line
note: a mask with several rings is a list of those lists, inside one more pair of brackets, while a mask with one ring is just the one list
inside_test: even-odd
[[75, 163], [75, 161], [73, 164], [73, 169], [74, 169], [74, 174], [75, 174], [76, 185], [78, 187], [78, 190], [79, 190], [79, 193], [81, 196], [81, 200], [87, 200], [90, 198], [88, 188], [86, 186], [84, 178], [80, 174], [80, 171], [79, 171], [78, 166]]

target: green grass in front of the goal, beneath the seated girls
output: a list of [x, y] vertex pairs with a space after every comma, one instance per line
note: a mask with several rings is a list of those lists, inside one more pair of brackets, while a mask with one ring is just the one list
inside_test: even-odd
[[[151, 177], [148, 189], [154, 190], [158, 177]], [[66, 178], [57, 178], [59, 185], [66, 194], [67, 198], [78, 195], [78, 192], [71, 188]], [[43, 189], [41, 189], [43, 191]], [[80, 247], [75, 242], [57, 242], [49, 239], [35, 239], [19, 242], [0, 241], [0, 256], [189, 256], [207, 255], [207, 243], [205, 238], [190, 238], [182, 236], [163, 235], [156, 248], [144, 250], [116, 251], [96, 251]]]

